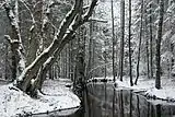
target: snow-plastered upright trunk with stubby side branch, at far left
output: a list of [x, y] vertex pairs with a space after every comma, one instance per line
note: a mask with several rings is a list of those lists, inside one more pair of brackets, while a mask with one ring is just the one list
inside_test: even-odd
[[[13, 4], [14, 2], [14, 4]], [[12, 36], [5, 35], [12, 51], [12, 80], [14, 81], [25, 69], [24, 48], [22, 45], [19, 27], [19, 3], [18, 0], [7, 0], [4, 4], [7, 15], [12, 27]]]

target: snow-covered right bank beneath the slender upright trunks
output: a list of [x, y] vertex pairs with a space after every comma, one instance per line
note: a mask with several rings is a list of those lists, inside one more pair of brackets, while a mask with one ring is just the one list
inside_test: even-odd
[[[95, 78], [97, 80], [102, 80], [104, 78]], [[113, 78], [106, 78], [110, 82], [113, 82]], [[138, 80], [138, 85], [130, 86], [129, 78], [124, 78], [124, 81], [119, 81], [116, 79], [116, 90], [133, 90], [133, 92], [144, 92], [144, 94], [149, 94], [151, 96], [155, 96], [158, 98], [163, 100], [174, 100], [175, 101], [175, 80], [161, 78], [162, 89], [155, 89], [155, 79], [147, 79], [141, 77]]]

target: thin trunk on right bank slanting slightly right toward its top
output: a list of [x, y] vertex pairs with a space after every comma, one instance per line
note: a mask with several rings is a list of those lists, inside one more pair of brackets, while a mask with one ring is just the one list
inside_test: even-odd
[[135, 84], [137, 85], [139, 79], [139, 66], [140, 66], [140, 50], [141, 50], [141, 39], [142, 39], [142, 28], [143, 28], [143, 0], [141, 0], [141, 21], [140, 21], [140, 35], [139, 35], [139, 50], [138, 50], [138, 61], [137, 61], [137, 77]]

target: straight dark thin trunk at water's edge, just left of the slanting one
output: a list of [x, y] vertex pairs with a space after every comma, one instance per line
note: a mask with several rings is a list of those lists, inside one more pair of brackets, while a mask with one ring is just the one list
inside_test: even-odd
[[132, 54], [131, 54], [131, 0], [129, 0], [129, 37], [128, 37], [128, 45], [129, 45], [129, 75], [130, 75], [130, 85], [133, 85], [132, 82]]

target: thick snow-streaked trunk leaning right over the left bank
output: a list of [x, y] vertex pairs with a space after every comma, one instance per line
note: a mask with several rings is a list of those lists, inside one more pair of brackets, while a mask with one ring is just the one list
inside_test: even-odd
[[[90, 8], [86, 12], [81, 16], [81, 5], [82, 0], [75, 0], [74, 7], [67, 14], [66, 19], [60, 24], [60, 30], [55, 36], [50, 46], [45, 49], [19, 77], [18, 79], [18, 87], [24, 92], [30, 91], [30, 94], [33, 92], [30, 85], [31, 80], [35, 79], [39, 68], [47, 61], [50, 62], [51, 58], [54, 58], [54, 54], [56, 57], [59, 56], [60, 51], [63, 49], [65, 45], [71, 40], [74, 31], [80, 27], [84, 22], [89, 21], [94, 7], [96, 5], [97, 0], [93, 0], [91, 2]], [[39, 79], [39, 78], [38, 78]], [[33, 80], [32, 80], [33, 81]], [[36, 80], [35, 80], [36, 81]], [[37, 83], [34, 83], [34, 87]]]

